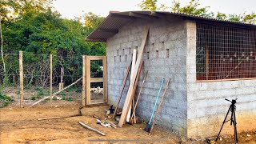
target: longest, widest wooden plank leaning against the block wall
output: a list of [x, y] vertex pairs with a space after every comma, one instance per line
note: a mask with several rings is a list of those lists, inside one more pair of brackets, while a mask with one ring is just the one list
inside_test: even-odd
[[132, 90], [134, 89], [135, 78], [138, 74], [138, 66], [140, 65], [140, 62], [142, 60], [142, 54], [143, 54], [143, 51], [144, 51], [144, 48], [145, 48], [145, 45], [146, 45], [146, 39], [147, 39], [148, 32], [149, 32], [149, 28], [147, 27], [146, 32], [144, 34], [145, 37], [142, 39], [142, 44], [141, 44], [140, 51], [139, 51], [139, 54], [138, 54], [137, 62], [136, 62], [135, 67], [134, 67], [134, 76], [131, 78], [130, 86], [129, 86], [128, 92], [126, 94], [126, 101], [124, 103], [124, 106], [123, 106], [123, 109], [122, 109], [122, 115], [121, 115], [120, 121], [118, 123], [119, 127], [122, 127], [122, 125], [124, 124], [124, 122], [126, 120], [126, 116], [128, 114], [128, 110], [130, 108], [130, 103], [131, 103], [131, 100], [132, 100], [131, 94], [132, 94]]

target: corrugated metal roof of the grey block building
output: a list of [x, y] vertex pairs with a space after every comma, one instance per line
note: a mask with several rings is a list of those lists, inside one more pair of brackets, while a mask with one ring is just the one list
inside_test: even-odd
[[240, 26], [253, 26], [256, 25], [248, 24], [244, 22], [235, 22], [230, 20], [220, 20], [217, 18], [206, 18], [198, 17], [192, 14], [182, 14], [174, 13], [167, 11], [125, 11], [125, 12], [110, 12], [110, 14], [104, 19], [104, 21], [94, 30], [91, 34], [88, 35], [86, 41], [89, 42], [106, 42], [107, 38], [112, 37], [114, 34], [118, 33], [118, 30], [125, 26], [129, 22], [133, 22], [136, 18], [159, 18], [164, 15], [174, 15], [187, 19], [194, 20], [205, 20], [210, 22], [222, 22], [230, 23]]

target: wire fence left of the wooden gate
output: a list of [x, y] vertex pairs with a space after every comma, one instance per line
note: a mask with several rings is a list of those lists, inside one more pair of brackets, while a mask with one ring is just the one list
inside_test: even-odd
[[[0, 66], [0, 91], [8, 95], [9, 103], [0, 98], [0, 106], [20, 106], [19, 54], [4, 54], [6, 73]], [[52, 106], [82, 104], [82, 56], [53, 55]], [[50, 106], [50, 54], [22, 54], [23, 106]], [[79, 80], [80, 78], [80, 80]], [[79, 81], [78, 81], [79, 80]], [[78, 81], [78, 82], [76, 82]], [[74, 85], [63, 90], [66, 86]], [[60, 91], [62, 90], [62, 91]], [[59, 92], [60, 91], [60, 92]], [[1, 93], [1, 94], [2, 94]]]

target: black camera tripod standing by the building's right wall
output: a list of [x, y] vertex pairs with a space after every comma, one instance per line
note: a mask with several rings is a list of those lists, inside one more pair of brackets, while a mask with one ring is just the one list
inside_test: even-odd
[[[230, 113], [230, 111], [231, 111], [231, 118], [230, 118], [230, 120], [226, 121], [226, 117], [225, 117], [225, 119], [224, 119], [224, 121], [223, 121], [223, 123], [222, 123], [222, 127], [224, 126], [224, 124], [225, 124], [226, 122], [229, 122], [229, 121], [230, 121], [230, 125], [233, 124], [233, 126], [234, 126], [234, 143], [235, 143], [235, 144], [238, 142], [237, 122], [236, 122], [236, 118], [235, 118], [235, 108], [236, 108], [236, 106], [234, 105], [234, 104], [237, 102], [237, 99], [238, 99], [238, 98], [235, 98], [235, 99], [232, 99], [232, 101], [230, 101], [230, 100], [228, 100], [228, 99], [225, 98], [226, 101], [231, 102], [230, 108], [229, 108], [229, 110], [228, 110], [227, 113], [226, 113], [226, 117], [227, 117], [227, 115], [228, 115], [228, 114]], [[219, 134], [221, 134], [221, 131], [222, 131], [222, 128], [221, 128], [221, 130], [219, 130], [218, 136], [219, 136]], [[218, 137], [216, 138], [215, 141], [216, 141], [216, 142], [218, 141]]]

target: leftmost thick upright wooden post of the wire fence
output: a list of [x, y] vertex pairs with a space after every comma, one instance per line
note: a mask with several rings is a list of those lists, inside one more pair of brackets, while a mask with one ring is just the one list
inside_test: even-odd
[[19, 51], [19, 85], [20, 85], [20, 107], [23, 107], [23, 62], [22, 51]]

